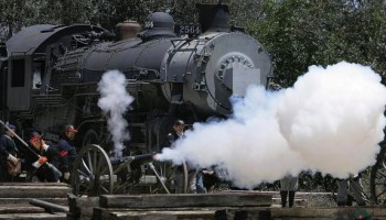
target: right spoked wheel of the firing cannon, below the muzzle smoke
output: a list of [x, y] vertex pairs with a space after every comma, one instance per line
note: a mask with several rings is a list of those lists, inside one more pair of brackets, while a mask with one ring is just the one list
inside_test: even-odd
[[159, 176], [157, 178], [157, 184], [150, 188], [151, 194], [187, 193], [187, 166], [185, 163], [176, 166], [170, 162], [156, 161], [149, 164], [149, 166], [153, 170], [154, 175]]

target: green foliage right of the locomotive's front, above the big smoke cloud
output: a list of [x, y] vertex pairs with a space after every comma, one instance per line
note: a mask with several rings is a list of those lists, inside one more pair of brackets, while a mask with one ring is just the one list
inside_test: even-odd
[[260, 20], [247, 23], [270, 52], [278, 79], [290, 86], [311, 65], [341, 61], [385, 75], [385, 6], [382, 1], [264, 1]]

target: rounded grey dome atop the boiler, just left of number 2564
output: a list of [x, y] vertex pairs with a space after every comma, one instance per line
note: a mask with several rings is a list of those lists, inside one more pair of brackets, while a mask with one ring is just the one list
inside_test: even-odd
[[144, 31], [140, 33], [140, 37], [142, 40], [150, 40], [162, 36], [175, 36], [174, 19], [164, 12], [149, 14], [144, 22]]

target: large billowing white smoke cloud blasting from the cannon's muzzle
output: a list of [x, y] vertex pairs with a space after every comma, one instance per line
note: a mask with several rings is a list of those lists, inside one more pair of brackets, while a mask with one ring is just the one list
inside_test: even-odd
[[369, 67], [311, 66], [293, 87], [249, 87], [234, 116], [195, 123], [159, 160], [219, 165], [236, 186], [253, 188], [287, 174], [319, 170], [345, 178], [373, 165], [385, 127], [386, 88]]

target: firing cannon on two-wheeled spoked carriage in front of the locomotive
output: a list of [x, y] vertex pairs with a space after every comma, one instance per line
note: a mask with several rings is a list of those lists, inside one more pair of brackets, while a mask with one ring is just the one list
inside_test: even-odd
[[109, 158], [98, 145], [84, 146], [74, 162], [73, 193], [78, 196], [186, 193], [186, 165], [158, 162], [154, 155]]

